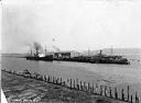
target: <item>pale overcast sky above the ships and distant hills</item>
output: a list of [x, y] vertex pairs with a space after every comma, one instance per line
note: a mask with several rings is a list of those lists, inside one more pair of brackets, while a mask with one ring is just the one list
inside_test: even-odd
[[[2, 52], [141, 48], [140, 0], [4, 0]], [[54, 42], [53, 42], [54, 39]]]

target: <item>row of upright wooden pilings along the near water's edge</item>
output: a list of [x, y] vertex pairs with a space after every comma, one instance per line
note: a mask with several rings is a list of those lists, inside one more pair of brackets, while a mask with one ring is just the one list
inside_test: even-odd
[[45, 76], [45, 75], [39, 75], [39, 73], [34, 73], [34, 72], [20, 73], [20, 72], [13, 71], [13, 70], [6, 70], [6, 69], [2, 69], [2, 71], [18, 75], [18, 76], [22, 76], [24, 78], [41, 80], [41, 81], [44, 81], [47, 83], [58, 84], [58, 85], [66, 87], [69, 89], [75, 89], [78, 91], [88, 92], [91, 94], [102, 95], [102, 96], [107, 96], [110, 99], [116, 99], [116, 100], [129, 102], [129, 103], [139, 103], [140, 102], [140, 99], [138, 96], [138, 92], [135, 92], [135, 95], [130, 94], [129, 85], [127, 87], [126, 90], [121, 89], [121, 91], [119, 91], [117, 88], [111, 88], [108, 85], [99, 85], [97, 83], [91, 84], [89, 82], [82, 81], [78, 79], [64, 80], [61, 77]]

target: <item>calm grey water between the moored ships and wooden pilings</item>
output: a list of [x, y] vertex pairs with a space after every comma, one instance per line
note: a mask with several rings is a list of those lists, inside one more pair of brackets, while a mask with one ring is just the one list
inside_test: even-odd
[[2, 57], [2, 66], [10, 70], [30, 69], [43, 75], [63, 77], [64, 79], [79, 79], [99, 84], [124, 88], [129, 84], [141, 95], [141, 64], [102, 65], [70, 61], [34, 61], [25, 58]]

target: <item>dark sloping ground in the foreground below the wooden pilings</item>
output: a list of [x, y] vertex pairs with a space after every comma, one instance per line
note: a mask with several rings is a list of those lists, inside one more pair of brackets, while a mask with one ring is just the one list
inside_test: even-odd
[[9, 103], [126, 103], [3, 71], [1, 87]]

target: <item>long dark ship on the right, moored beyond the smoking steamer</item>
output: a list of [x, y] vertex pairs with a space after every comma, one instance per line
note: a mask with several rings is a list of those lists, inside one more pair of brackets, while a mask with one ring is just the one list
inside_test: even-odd
[[101, 54], [102, 50], [100, 50], [99, 54], [95, 56], [77, 56], [72, 58], [58, 58], [55, 60], [62, 60], [62, 61], [78, 61], [78, 62], [91, 62], [91, 64], [119, 64], [119, 65], [129, 65], [127, 58], [123, 58], [122, 56], [116, 56], [116, 55], [104, 55]]

